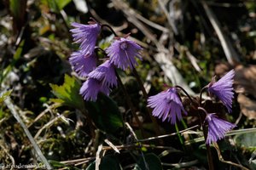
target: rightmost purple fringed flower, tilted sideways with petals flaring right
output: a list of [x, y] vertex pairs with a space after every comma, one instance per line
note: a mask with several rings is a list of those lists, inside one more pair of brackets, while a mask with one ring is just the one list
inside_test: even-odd
[[210, 82], [207, 85], [208, 92], [214, 94], [220, 99], [229, 112], [232, 111], [232, 99], [234, 98], [233, 92], [233, 79], [235, 71], [229, 71], [224, 77], [218, 80], [218, 82]]

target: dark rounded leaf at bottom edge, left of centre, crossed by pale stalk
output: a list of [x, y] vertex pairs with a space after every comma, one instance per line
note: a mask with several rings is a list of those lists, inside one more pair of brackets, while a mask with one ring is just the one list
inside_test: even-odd
[[[90, 163], [90, 165], [86, 168], [86, 170], [95, 170], [96, 161]], [[119, 160], [114, 156], [104, 156], [102, 158], [99, 169], [101, 170], [121, 170]]]

